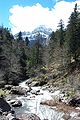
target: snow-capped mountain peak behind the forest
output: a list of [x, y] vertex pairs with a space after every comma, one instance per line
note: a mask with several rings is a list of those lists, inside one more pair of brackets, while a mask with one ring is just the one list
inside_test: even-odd
[[[26, 37], [28, 37], [30, 41], [30, 46], [33, 46], [35, 44], [37, 38], [40, 39], [40, 42], [42, 44], [46, 44], [46, 40], [48, 39], [51, 32], [52, 32], [51, 28], [46, 28], [44, 25], [41, 25], [35, 28], [32, 32], [22, 32], [22, 37], [24, 40]], [[17, 35], [18, 34], [16, 34], [15, 36]]]

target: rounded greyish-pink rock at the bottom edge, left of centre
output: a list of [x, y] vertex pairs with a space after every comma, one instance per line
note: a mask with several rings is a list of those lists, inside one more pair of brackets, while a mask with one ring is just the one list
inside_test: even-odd
[[41, 120], [37, 115], [33, 113], [27, 113], [27, 114], [22, 114], [17, 116], [19, 120]]

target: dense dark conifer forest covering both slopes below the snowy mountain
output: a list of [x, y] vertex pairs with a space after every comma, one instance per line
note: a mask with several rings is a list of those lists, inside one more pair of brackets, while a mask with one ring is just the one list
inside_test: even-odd
[[[13, 84], [36, 75], [52, 64], [59, 65], [61, 71], [80, 62], [80, 13], [75, 4], [68, 25], [64, 28], [61, 19], [58, 29], [53, 31], [48, 43], [40, 43], [39, 35], [34, 46], [29, 46], [20, 31], [15, 38], [11, 31], [0, 27], [0, 85]], [[38, 73], [37, 73], [38, 74]]]

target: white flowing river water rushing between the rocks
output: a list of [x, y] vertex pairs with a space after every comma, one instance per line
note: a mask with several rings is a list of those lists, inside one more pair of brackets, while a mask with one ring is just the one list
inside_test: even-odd
[[[25, 82], [20, 83], [20, 86], [27, 88], [28, 86]], [[40, 102], [43, 100], [52, 99], [51, 94], [47, 90], [42, 90], [41, 87], [32, 87], [33, 90], [40, 90], [40, 95], [33, 95], [28, 93], [26, 96], [17, 97], [20, 101], [22, 101], [22, 107], [16, 108], [15, 111], [17, 114], [20, 113], [34, 113], [40, 117], [41, 120], [64, 120], [62, 118], [62, 112], [56, 110], [56, 108], [52, 108], [46, 105], [41, 105]]]

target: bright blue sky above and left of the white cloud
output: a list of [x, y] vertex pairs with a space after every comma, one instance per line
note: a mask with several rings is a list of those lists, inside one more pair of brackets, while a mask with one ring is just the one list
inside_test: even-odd
[[44, 7], [52, 8], [53, 2], [52, 0], [1, 0], [0, 1], [0, 24], [4, 24], [5, 26], [9, 26], [9, 9], [13, 5], [20, 6], [32, 6], [36, 3], [40, 3]]

